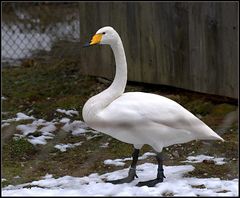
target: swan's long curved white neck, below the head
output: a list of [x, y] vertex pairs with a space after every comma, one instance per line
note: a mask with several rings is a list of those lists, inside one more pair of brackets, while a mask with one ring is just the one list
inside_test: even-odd
[[116, 62], [116, 73], [110, 87], [90, 98], [83, 107], [83, 119], [90, 124], [97, 114], [124, 93], [127, 83], [127, 62], [121, 38], [111, 45]]

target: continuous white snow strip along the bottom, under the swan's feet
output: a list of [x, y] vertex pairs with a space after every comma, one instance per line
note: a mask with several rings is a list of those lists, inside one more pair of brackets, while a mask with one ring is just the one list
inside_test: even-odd
[[153, 179], [157, 165], [144, 163], [137, 167], [138, 178], [128, 184], [114, 185], [105, 180], [119, 179], [128, 169], [103, 175], [54, 178], [47, 174], [41, 180], [2, 189], [3, 196], [238, 196], [238, 179], [184, 177], [192, 165], [164, 166], [166, 179], [155, 187], [137, 187], [139, 181]]

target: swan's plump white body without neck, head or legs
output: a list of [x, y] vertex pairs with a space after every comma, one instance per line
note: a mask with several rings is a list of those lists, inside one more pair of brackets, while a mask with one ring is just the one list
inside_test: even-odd
[[194, 139], [220, 139], [178, 103], [156, 94], [124, 93], [97, 114], [92, 127], [123, 142], [163, 147]]

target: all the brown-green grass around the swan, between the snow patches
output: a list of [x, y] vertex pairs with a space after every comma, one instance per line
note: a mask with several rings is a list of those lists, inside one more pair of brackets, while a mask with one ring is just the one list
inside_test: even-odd
[[[52, 120], [62, 115], [57, 108], [76, 109], [79, 116], [72, 119], [82, 120], [81, 110], [87, 99], [105, 89], [107, 83], [98, 81], [95, 77], [82, 76], [80, 68], [71, 61], [61, 60], [52, 63], [37, 63], [29, 67], [2, 69], [2, 119], [16, 117], [16, 113], [23, 112], [36, 118]], [[168, 87], [129, 83], [126, 91], [145, 91], [169, 97], [206, 122], [213, 129], [218, 129], [228, 115], [237, 110], [237, 104], [222, 97], [210, 97], [204, 94], [188, 92]], [[105, 159], [129, 157], [132, 146], [115, 140], [107, 135], [86, 141], [86, 136], [72, 136], [61, 130], [54, 133], [55, 137], [46, 145], [33, 146], [26, 139], [14, 140], [13, 135], [19, 133], [16, 126], [29, 121], [12, 122], [2, 128], [2, 173], [6, 181], [3, 186], [20, 184], [40, 179], [47, 173], [54, 177], [65, 175], [85, 176], [94, 172], [99, 174], [121, 169], [105, 165]], [[221, 128], [222, 129], [222, 128]], [[225, 157], [228, 162], [222, 166], [211, 163], [194, 164], [195, 170], [188, 176], [220, 177], [231, 179], [238, 177], [238, 123], [237, 119], [224, 126], [222, 137], [226, 142], [212, 142], [210, 145], [203, 141], [192, 141], [182, 145], [164, 148], [165, 165], [183, 164], [189, 155], [206, 154]], [[34, 134], [38, 136], [36, 132]], [[93, 135], [89, 133], [89, 135]], [[83, 141], [81, 146], [60, 152], [54, 148], [58, 143], [76, 143]], [[108, 148], [99, 147], [109, 142]], [[152, 151], [145, 145], [141, 154]], [[139, 161], [156, 163], [154, 157]], [[127, 162], [124, 167], [128, 167]], [[207, 176], [206, 176], [207, 174]], [[19, 178], [16, 176], [19, 176]], [[168, 192], [166, 192], [168, 194]], [[170, 193], [171, 194], [171, 193]]]

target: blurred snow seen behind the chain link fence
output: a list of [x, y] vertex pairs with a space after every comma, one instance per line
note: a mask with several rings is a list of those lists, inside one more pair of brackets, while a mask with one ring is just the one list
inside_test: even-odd
[[[19, 16], [20, 18], [23, 18], [26, 14], [19, 14]], [[26, 17], [24, 17], [24, 19], [25, 18]], [[40, 19], [32, 19], [31, 17], [28, 17], [28, 20], [31, 21], [31, 23], [40, 23]], [[27, 25], [27, 29], [31, 27], [31, 23], [25, 24]], [[74, 28], [74, 31], [72, 31], [72, 28]], [[21, 23], [18, 23], [17, 25], [2, 24], [2, 58], [4, 61], [31, 57], [36, 50], [50, 51], [52, 44], [56, 40], [64, 38], [75, 41], [76, 39], [79, 40], [80, 35], [78, 31], [78, 20], [58, 22], [52, 27], [49, 26], [46, 28], [45, 32], [41, 33], [36, 30], [24, 30], [26, 30], [26, 27], [23, 27], [23, 24]]]

